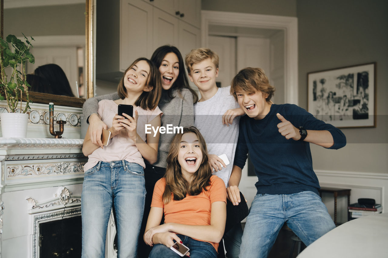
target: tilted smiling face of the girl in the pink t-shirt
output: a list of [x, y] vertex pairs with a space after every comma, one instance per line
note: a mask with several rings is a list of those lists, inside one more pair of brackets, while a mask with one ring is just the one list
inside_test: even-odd
[[152, 88], [147, 86], [149, 73], [150, 67], [145, 60], [140, 60], [128, 69], [124, 76], [124, 87], [127, 92], [150, 91]]

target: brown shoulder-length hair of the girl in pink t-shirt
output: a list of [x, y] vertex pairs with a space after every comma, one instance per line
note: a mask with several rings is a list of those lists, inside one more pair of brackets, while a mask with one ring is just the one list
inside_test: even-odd
[[144, 57], [137, 58], [133, 63], [125, 70], [123, 77], [117, 86], [117, 93], [123, 100], [127, 95], [126, 88], [124, 86], [125, 74], [129, 69], [133, 67], [137, 62], [144, 60], [149, 65], [149, 75], [147, 78], [147, 86], [153, 87], [151, 91], [143, 91], [139, 98], [136, 100], [135, 105], [140, 106], [143, 109], [153, 110], [158, 106], [161, 92], [162, 82], [160, 79], [159, 69], [150, 60]]

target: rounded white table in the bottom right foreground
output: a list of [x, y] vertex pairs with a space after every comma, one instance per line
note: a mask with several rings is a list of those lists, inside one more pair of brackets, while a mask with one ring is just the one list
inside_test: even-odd
[[327, 232], [298, 258], [388, 257], [388, 213], [350, 220]]

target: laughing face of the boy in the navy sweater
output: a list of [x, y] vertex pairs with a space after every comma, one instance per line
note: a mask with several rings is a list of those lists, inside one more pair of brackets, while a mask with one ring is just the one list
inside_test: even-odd
[[236, 91], [236, 95], [237, 102], [249, 117], [260, 120], [270, 112], [271, 104], [265, 100], [268, 95], [262, 91]]

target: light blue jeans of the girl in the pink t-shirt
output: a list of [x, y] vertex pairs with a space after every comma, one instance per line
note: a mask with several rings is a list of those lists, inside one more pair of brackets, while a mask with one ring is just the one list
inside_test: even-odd
[[106, 231], [113, 200], [118, 257], [136, 257], [144, 199], [144, 171], [137, 163], [100, 161], [85, 171], [81, 196], [82, 258], [105, 257]]

